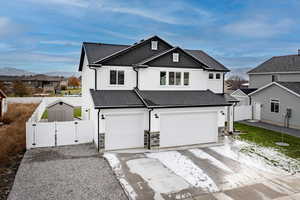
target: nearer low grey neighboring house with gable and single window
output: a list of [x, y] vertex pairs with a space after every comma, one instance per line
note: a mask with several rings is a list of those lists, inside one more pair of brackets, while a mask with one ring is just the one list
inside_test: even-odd
[[272, 82], [250, 97], [261, 104], [261, 121], [300, 129], [300, 81]]

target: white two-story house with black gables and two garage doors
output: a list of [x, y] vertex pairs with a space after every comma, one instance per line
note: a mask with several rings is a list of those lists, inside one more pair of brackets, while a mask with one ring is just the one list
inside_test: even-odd
[[158, 36], [133, 45], [85, 42], [79, 71], [83, 117], [95, 122], [99, 150], [217, 142], [232, 105], [225, 66]]

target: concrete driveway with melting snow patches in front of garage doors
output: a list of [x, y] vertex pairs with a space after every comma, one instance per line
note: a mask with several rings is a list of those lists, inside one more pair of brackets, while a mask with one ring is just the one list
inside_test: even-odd
[[226, 146], [104, 156], [131, 199], [300, 199], [300, 176]]

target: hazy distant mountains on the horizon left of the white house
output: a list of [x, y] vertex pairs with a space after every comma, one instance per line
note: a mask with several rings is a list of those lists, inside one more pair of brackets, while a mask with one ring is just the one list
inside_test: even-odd
[[[26, 71], [23, 69], [17, 69], [13, 67], [0, 68], [0, 76], [30, 76], [35, 74], [38, 73]], [[70, 77], [70, 76], [79, 77], [81, 75], [80, 72], [64, 72], [64, 71], [53, 71], [53, 72], [46, 72], [43, 74], [48, 76], [63, 76], [63, 77]]]

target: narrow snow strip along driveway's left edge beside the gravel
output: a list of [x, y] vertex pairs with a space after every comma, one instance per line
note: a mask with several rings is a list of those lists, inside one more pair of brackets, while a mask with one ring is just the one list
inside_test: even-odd
[[118, 180], [120, 181], [122, 187], [124, 188], [125, 192], [127, 193], [127, 196], [130, 197], [130, 199], [135, 200], [137, 197], [137, 194], [135, 193], [134, 189], [131, 187], [131, 185], [127, 182], [125, 179], [125, 175], [122, 171], [121, 163], [119, 159], [117, 158], [116, 154], [114, 153], [105, 153], [103, 155], [104, 158], [109, 162], [109, 165], [115, 172]]

